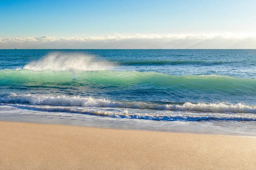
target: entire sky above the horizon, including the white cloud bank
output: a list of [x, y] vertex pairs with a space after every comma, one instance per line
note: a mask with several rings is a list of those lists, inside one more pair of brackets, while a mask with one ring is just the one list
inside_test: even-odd
[[255, 0], [0, 0], [5, 48], [256, 48]]

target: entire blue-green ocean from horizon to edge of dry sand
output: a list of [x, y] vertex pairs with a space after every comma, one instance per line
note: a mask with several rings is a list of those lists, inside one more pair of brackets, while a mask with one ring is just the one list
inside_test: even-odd
[[256, 50], [0, 50], [0, 120], [256, 136]]

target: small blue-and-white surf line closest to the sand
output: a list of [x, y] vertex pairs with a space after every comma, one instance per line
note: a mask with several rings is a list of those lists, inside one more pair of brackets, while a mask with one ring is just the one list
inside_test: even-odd
[[[19, 109], [19, 113], [27, 114], [28, 110], [36, 111], [34, 116], [47, 115], [80, 118], [81, 115], [94, 115], [117, 119], [145, 119], [155, 121], [256, 121], [256, 114], [252, 113], [220, 113], [220, 112], [196, 112], [196, 111], [169, 111], [147, 110], [133, 108], [82, 107], [82, 106], [54, 106], [54, 105], [30, 105], [30, 104], [0, 104], [0, 112], [10, 112]], [[31, 112], [29, 113], [29, 115]], [[75, 114], [75, 115], [74, 115]]]

